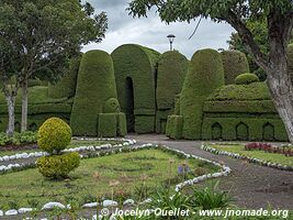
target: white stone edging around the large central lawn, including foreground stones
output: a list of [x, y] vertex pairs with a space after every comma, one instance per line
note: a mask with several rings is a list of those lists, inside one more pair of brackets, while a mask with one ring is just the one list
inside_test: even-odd
[[[133, 144], [136, 143], [136, 141], [134, 141], [134, 140], [132, 142], [133, 142]], [[131, 144], [128, 144], [128, 145], [131, 145]], [[127, 146], [127, 145], [124, 145], [124, 146]], [[129, 147], [129, 148], [127, 148], [126, 152], [135, 152], [137, 150], [150, 148], [150, 147], [154, 147], [154, 148], [164, 147], [167, 151], [174, 152], [177, 154], [181, 154], [185, 158], [194, 158], [194, 160], [207, 162], [207, 163], [214, 164], [215, 166], [218, 166], [218, 167], [222, 168], [222, 172], [198, 176], [198, 177], [195, 177], [193, 179], [189, 179], [189, 180], [179, 183], [179, 184], [176, 185], [176, 188], [174, 188], [176, 191], [181, 190], [185, 186], [192, 186], [192, 185], [194, 185], [196, 183], [200, 183], [200, 182], [203, 182], [205, 179], [218, 178], [218, 177], [222, 177], [222, 176], [227, 176], [232, 172], [232, 169], [228, 166], [221, 165], [221, 164], [218, 164], [216, 162], [213, 162], [213, 161], [210, 161], [210, 160], [200, 157], [200, 156], [195, 156], [195, 155], [192, 155], [192, 154], [187, 154], [183, 151], [174, 150], [174, 148], [171, 148], [171, 147], [169, 147], [167, 145], [159, 145], [159, 144], [156, 144], [155, 145], [155, 144], [150, 144], [149, 143], [149, 144], [143, 144], [143, 145], [139, 145], [139, 146]], [[117, 154], [117, 153], [121, 153], [121, 152], [123, 152], [123, 148], [119, 148], [116, 151], [112, 150], [110, 152], [106, 152], [104, 154], [104, 156], [112, 155], [112, 154]], [[95, 156], [97, 157], [100, 157], [101, 155], [98, 153]], [[81, 157], [81, 158], [87, 158], [87, 157]], [[133, 199], [127, 199], [123, 204], [126, 204], [126, 201], [128, 201], [128, 204], [131, 204], [131, 205], [134, 204], [134, 200]], [[151, 201], [150, 199], [146, 199], [144, 202], [147, 204], [147, 202], [150, 202], [150, 201]], [[95, 208], [98, 205], [99, 205], [98, 202], [91, 202], [91, 204], [84, 204], [81, 207], [82, 208]], [[116, 201], [113, 201], [113, 200], [104, 200], [100, 205], [103, 206], [103, 207], [109, 207], [109, 206], [117, 206], [117, 202]], [[67, 209], [70, 209], [70, 205], [65, 206], [65, 205], [59, 204], [59, 202], [50, 201], [50, 202], [45, 204], [43, 206], [42, 210], [49, 210], [49, 209], [53, 209], [53, 208], [61, 208], [61, 209], [67, 208]], [[33, 210], [34, 210], [33, 208], [20, 208], [19, 210], [12, 209], [12, 210], [8, 210], [5, 212], [3, 212], [2, 210], [0, 210], [0, 217], [1, 216], [16, 216], [16, 215], [30, 212], [30, 211], [33, 211]]]

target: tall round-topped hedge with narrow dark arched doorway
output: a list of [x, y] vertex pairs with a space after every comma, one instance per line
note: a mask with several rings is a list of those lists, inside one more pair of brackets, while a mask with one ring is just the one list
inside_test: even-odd
[[[121, 109], [127, 116], [128, 131], [155, 131], [156, 65], [159, 53], [135, 44], [117, 47], [112, 54]], [[136, 110], [153, 112], [137, 116]]]

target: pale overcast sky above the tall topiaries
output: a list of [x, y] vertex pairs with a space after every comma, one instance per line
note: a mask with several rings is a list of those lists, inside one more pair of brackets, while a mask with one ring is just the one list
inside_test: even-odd
[[162, 23], [155, 12], [149, 12], [148, 18], [133, 19], [125, 10], [129, 0], [88, 0], [97, 12], [105, 11], [109, 18], [109, 30], [105, 38], [99, 44], [89, 44], [83, 52], [103, 50], [112, 53], [122, 44], [135, 43], [160, 53], [169, 50], [168, 34], [174, 34], [174, 48], [191, 57], [200, 48], [227, 48], [226, 41], [234, 29], [229, 24], [214, 23], [203, 20], [196, 34], [188, 40], [196, 26], [198, 20], [188, 23]]

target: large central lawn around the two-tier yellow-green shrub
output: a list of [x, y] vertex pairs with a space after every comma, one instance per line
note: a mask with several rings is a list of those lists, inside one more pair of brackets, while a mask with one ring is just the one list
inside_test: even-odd
[[[169, 160], [173, 160], [170, 167]], [[95, 201], [97, 197], [111, 199], [110, 182], [119, 180], [114, 187], [114, 199], [120, 197], [138, 199], [136, 187], [143, 184], [155, 190], [159, 185], [182, 180], [178, 177], [177, 167], [187, 162], [194, 176], [214, 173], [218, 167], [196, 160], [182, 160], [160, 150], [142, 150], [121, 153], [99, 158], [82, 160], [80, 166], [70, 173], [70, 179], [49, 180], [36, 168], [0, 176], [0, 209], [14, 208], [18, 204], [27, 207], [32, 201], [38, 207], [48, 201], [79, 204]], [[171, 170], [171, 172], [169, 172]], [[173, 188], [173, 187], [172, 187]], [[125, 199], [123, 198], [123, 199]], [[143, 199], [143, 198], [142, 198]]]

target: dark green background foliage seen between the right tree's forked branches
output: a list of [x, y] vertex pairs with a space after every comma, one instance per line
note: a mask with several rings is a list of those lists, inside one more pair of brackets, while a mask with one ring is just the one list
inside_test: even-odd
[[[268, 42], [267, 19], [263, 16], [259, 16], [253, 20], [249, 19], [247, 20], [247, 26], [253, 34], [253, 38], [260, 46], [261, 52], [268, 55], [269, 42]], [[252, 56], [245, 50], [245, 46], [237, 32], [232, 33], [230, 38], [229, 41], [227, 41], [227, 43], [229, 44], [230, 50], [237, 50], [246, 54], [250, 66], [250, 72], [256, 74], [261, 81], [264, 81], [267, 78], [264, 70], [256, 64]], [[293, 43], [293, 32], [290, 37], [290, 43]]]

